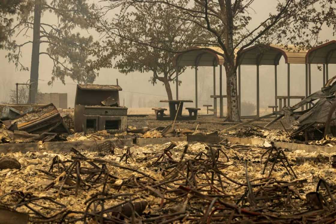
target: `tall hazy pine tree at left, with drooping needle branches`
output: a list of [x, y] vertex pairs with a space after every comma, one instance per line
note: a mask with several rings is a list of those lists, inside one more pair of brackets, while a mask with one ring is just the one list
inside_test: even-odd
[[[12, 27], [5, 30], [8, 38], [4, 48], [9, 51], [8, 61], [15, 63], [18, 70], [27, 71], [28, 66], [21, 62], [22, 49], [32, 45], [30, 71], [35, 95], [40, 55], [53, 61], [49, 84], [55, 79], [65, 83], [65, 77], [78, 83], [95, 80], [97, 73], [88, 69], [92, 62], [89, 49], [93, 38], [78, 32], [89, 29], [92, 18], [91, 6], [86, 0], [22, 0], [19, 4]], [[19, 43], [16, 37], [20, 35], [26, 37], [26, 41]]]

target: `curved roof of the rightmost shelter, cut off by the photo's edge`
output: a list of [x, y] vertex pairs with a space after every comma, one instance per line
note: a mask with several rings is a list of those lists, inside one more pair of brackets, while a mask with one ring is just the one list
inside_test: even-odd
[[310, 49], [305, 57], [310, 64], [336, 64], [336, 40], [329, 41]]

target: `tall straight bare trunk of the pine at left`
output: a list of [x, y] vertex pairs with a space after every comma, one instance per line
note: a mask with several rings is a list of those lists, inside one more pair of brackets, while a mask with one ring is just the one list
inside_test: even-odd
[[34, 28], [33, 28], [33, 49], [32, 62], [30, 66], [30, 103], [35, 103], [38, 79], [39, 79], [39, 63], [40, 63], [40, 26], [41, 26], [41, 0], [35, 0], [34, 9]]

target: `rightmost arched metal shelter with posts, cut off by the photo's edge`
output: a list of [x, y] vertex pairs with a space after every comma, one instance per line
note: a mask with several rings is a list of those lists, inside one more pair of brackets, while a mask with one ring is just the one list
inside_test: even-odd
[[311, 64], [323, 64], [323, 85], [329, 79], [328, 64], [336, 64], [336, 40], [329, 41], [322, 45], [311, 48], [305, 58], [305, 63], [308, 64], [308, 79], [309, 79], [309, 95], [311, 94]]

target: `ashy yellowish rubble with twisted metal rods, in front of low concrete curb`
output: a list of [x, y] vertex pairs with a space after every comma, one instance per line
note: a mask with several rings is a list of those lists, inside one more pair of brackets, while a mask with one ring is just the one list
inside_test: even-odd
[[[274, 145], [171, 142], [98, 152], [11, 153], [0, 222], [334, 223], [330, 155]], [[35, 159], [33, 159], [35, 158]], [[31, 161], [34, 161], [32, 163]], [[8, 218], [7, 218], [8, 219]]]

